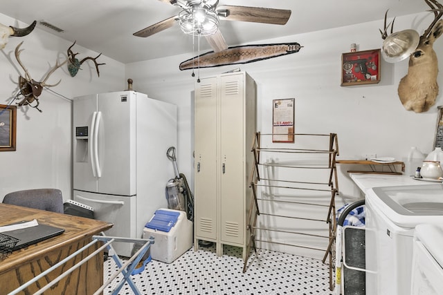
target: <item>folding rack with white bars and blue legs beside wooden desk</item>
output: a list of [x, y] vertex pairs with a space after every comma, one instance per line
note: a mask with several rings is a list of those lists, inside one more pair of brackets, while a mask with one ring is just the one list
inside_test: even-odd
[[[146, 263], [148, 263], [151, 260], [151, 256], [149, 256], [148, 258], [146, 258], [143, 261], [143, 266], [138, 267], [138, 269], [136, 269], [136, 266], [139, 263], [141, 263], [142, 258], [145, 256], [145, 254], [147, 254], [147, 250], [150, 248], [150, 245], [154, 244], [154, 238], [152, 238], [152, 237], [149, 239], [122, 238], [122, 237], [114, 237], [114, 236], [105, 236], [104, 233], [101, 233], [101, 236], [92, 236], [91, 242], [89, 242], [87, 245], [84, 245], [84, 247], [78, 249], [78, 251], [75, 251], [73, 254], [67, 256], [63, 260], [60, 260], [59, 263], [56, 263], [52, 267], [46, 269], [45, 272], [42, 272], [42, 274], [35, 276], [35, 278], [33, 278], [32, 280], [28, 280], [28, 282], [24, 283], [23, 285], [21, 285], [20, 287], [18, 287], [14, 291], [8, 293], [8, 295], [19, 294], [19, 292], [24, 291], [24, 289], [26, 289], [26, 287], [37, 282], [37, 280], [39, 280], [40, 278], [43, 278], [44, 276], [46, 276], [47, 274], [52, 272], [54, 269], [57, 269], [57, 267], [64, 265], [64, 263], [69, 261], [71, 258], [74, 258], [78, 254], [81, 254], [82, 251], [88, 249], [92, 245], [95, 245], [99, 241], [104, 242], [104, 244], [101, 247], [96, 249], [96, 251], [93, 251], [93, 253], [89, 254], [89, 256], [80, 260], [79, 263], [75, 264], [73, 267], [66, 269], [65, 272], [60, 274], [60, 276], [57, 276], [57, 278], [54, 278], [53, 280], [51, 280], [51, 282], [49, 282], [47, 285], [42, 287], [42, 289], [39, 289], [38, 292], [35, 292], [34, 295], [43, 294], [46, 290], [50, 289], [51, 286], [55, 285], [58, 281], [62, 280], [62, 278], [71, 274], [71, 272], [73, 272], [75, 269], [78, 269], [78, 267], [80, 267], [81, 265], [86, 263], [87, 260], [93, 258], [97, 254], [99, 254], [100, 251], [103, 251], [105, 249], [107, 249], [109, 251], [109, 254], [111, 254], [111, 257], [114, 258], [114, 261], [115, 261], [116, 265], [119, 267], [119, 269], [117, 272], [112, 274], [111, 277], [109, 277], [109, 279], [105, 283], [103, 283], [103, 285], [93, 295], [102, 294], [103, 290], [108, 285], [110, 285], [112, 283], [112, 281], [119, 274], [123, 274], [123, 280], [121, 280], [120, 283], [118, 283], [118, 285], [111, 291], [112, 295], [118, 295], [118, 292], [120, 292], [120, 289], [123, 287], [123, 285], [125, 285], [125, 283], [128, 283], [129, 287], [131, 287], [134, 294], [142, 295], [142, 293], [140, 291], [138, 291], [137, 286], [135, 285], [134, 281], [132, 280], [131, 274], [134, 274], [134, 273], [137, 274], [137, 273], [143, 272], [143, 269], [145, 268]], [[116, 251], [114, 251], [114, 248], [111, 245], [112, 242], [134, 242], [134, 243], [141, 245], [141, 247], [138, 249], [138, 251], [136, 251], [136, 253], [134, 255], [132, 255], [128, 260], [126, 260], [125, 263], [123, 263], [123, 261], [120, 260], [120, 257], [118, 257], [118, 255], [116, 254]]]

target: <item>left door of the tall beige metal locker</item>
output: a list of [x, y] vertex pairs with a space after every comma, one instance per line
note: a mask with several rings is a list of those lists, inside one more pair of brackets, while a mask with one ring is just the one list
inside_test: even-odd
[[195, 235], [217, 238], [217, 80], [195, 91]]

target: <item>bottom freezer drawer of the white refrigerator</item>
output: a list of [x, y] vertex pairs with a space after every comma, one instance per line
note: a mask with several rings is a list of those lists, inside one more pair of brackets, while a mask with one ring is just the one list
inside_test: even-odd
[[[100, 193], [74, 191], [74, 200], [94, 209], [94, 218], [114, 224], [105, 234], [134, 238], [136, 236], [136, 196], [109, 196]], [[131, 256], [132, 243], [113, 242], [118, 255]]]

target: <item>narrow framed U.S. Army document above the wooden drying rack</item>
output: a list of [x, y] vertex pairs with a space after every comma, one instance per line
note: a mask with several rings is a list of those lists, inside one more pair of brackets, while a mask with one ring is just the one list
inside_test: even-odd
[[273, 99], [272, 142], [293, 142], [294, 100]]

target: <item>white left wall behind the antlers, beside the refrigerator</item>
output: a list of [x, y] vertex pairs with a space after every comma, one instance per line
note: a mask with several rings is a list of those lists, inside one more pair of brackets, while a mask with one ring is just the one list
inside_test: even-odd
[[[19, 28], [29, 25], [1, 14], [0, 23]], [[0, 52], [0, 104], [10, 102], [17, 91], [19, 75], [24, 75], [14, 55], [15, 47], [21, 41], [24, 41], [21, 61], [37, 81], [42, 80], [57, 58], [60, 61], [66, 58], [66, 50], [72, 44], [37, 28], [26, 37], [10, 37], [6, 48]], [[80, 58], [98, 55], [78, 45], [73, 51], [80, 53]], [[1, 200], [11, 191], [46, 187], [61, 189], [65, 200], [71, 198], [71, 99], [127, 87], [124, 64], [105, 56], [98, 61], [106, 63], [100, 66], [100, 77], [97, 77], [93, 63], [83, 64], [75, 77], [69, 75], [66, 65], [56, 70], [48, 84], [55, 84], [60, 79], [62, 82], [50, 88], [55, 93], [44, 90], [40, 95], [42, 113], [35, 108], [17, 108], [17, 151], [0, 152]]]

